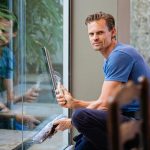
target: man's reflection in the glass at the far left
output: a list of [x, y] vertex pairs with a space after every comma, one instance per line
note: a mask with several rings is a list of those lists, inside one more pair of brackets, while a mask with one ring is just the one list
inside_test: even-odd
[[17, 21], [12, 13], [2, 8], [0, 8], [0, 15], [2, 15], [0, 16], [0, 112], [9, 112], [10, 114], [5, 116], [15, 117], [16, 120], [21, 120], [23, 117], [30, 122], [38, 123], [38, 120], [34, 117], [12, 114], [9, 108], [1, 101], [4, 90], [7, 93], [8, 106], [11, 103], [22, 101], [22, 97], [29, 102], [35, 100], [38, 96], [38, 91], [29, 89], [23, 96], [15, 96], [13, 94], [14, 58], [12, 50], [7, 45], [10, 39], [17, 34]]

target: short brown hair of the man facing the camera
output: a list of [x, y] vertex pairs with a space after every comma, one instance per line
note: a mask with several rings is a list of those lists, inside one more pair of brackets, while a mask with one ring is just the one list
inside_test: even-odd
[[112, 30], [115, 27], [115, 19], [112, 15], [104, 13], [102, 11], [89, 15], [86, 20], [85, 20], [85, 24], [87, 25], [90, 22], [96, 21], [96, 20], [100, 20], [100, 19], [104, 19], [106, 21], [107, 27], [110, 30]]

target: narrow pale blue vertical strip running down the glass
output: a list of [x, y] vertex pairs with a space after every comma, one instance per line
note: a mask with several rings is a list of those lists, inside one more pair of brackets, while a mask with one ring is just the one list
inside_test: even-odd
[[[19, 56], [19, 66], [18, 73], [20, 77], [20, 85], [19, 93], [23, 95], [24, 90], [26, 89], [26, 76], [25, 76], [25, 67], [26, 67], [26, 10], [25, 10], [26, 0], [18, 0], [18, 23], [19, 23], [19, 31], [18, 31], [18, 56]], [[23, 102], [23, 97], [22, 97]], [[23, 103], [22, 103], [22, 115], [23, 115]], [[22, 141], [23, 141], [23, 119], [22, 119]], [[23, 142], [22, 142], [23, 148]]]

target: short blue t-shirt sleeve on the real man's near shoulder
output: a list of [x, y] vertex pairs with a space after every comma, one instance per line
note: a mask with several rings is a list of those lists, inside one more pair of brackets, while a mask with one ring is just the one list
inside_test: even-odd
[[105, 63], [105, 81], [127, 82], [134, 65], [134, 59], [123, 52], [113, 52]]

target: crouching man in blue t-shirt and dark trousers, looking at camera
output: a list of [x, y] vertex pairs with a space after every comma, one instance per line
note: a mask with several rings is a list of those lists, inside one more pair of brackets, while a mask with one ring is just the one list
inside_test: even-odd
[[[57, 89], [57, 101], [62, 107], [76, 109], [72, 124], [82, 133], [76, 141], [75, 150], [107, 150], [107, 109], [108, 99], [117, 86], [129, 80], [137, 83], [138, 77], [150, 78], [150, 69], [143, 57], [129, 45], [116, 40], [115, 20], [112, 15], [99, 12], [86, 18], [90, 43], [105, 58], [104, 82], [97, 101], [77, 100], [64, 90], [63, 95]], [[80, 108], [80, 109], [79, 109]], [[136, 100], [122, 107], [122, 121], [135, 117], [139, 110]], [[71, 119], [57, 121], [56, 130], [70, 128]]]

